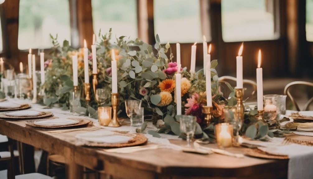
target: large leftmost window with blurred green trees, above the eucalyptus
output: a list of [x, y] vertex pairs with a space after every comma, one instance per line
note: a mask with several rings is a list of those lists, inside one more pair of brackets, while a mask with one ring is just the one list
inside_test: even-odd
[[[49, 34], [70, 41], [68, 0], [20, 0], [18, 49], [51, 48]], [[60, 43], [62, 44], [62, 43]]]

